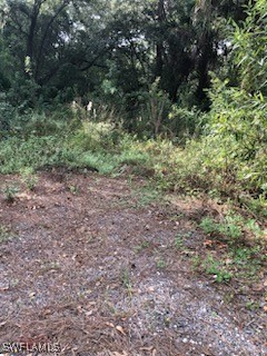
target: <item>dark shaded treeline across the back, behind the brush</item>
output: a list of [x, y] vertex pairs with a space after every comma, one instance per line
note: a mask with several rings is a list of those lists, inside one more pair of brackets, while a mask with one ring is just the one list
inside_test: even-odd
[[171, 102], [207, 110], [227, 21], [244, 20], [247, 2], [2, 1], [0, 88], [12, 105], [98, 97], [132, 110], [159, 78]]

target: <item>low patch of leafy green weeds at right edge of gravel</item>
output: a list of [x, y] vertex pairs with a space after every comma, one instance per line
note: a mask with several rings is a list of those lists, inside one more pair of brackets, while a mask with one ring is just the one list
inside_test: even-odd
[[263, 239], [266, 231], [255, 220], [230, 211], [219, 221], [205, 217], [200, 227], [214, 241], [222, 239], [226, 248], [216, 257], [207, 255], [204, 261], [199, 259], [196, 267], [215, 275], [217, 281], [258, 279], [258, 273], [267, 261]]

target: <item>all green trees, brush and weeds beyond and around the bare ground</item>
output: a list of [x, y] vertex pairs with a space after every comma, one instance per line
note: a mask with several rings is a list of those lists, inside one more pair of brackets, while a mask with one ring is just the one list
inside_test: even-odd
[[[258, 231], [267, 217], [266, 1], [0, 4], [1, 174], [20, 174], [29, 190], [50, 167], [137, 175], [158, 191], [245, 209], [250, 227], [235, 215], [201, 222], [229, 245]], [[3, 192], [13, 201], [14, 188]], [[138, 204], [151, 200], [155, 190]], [[210, 257], [205, 268], [214, 265]]]

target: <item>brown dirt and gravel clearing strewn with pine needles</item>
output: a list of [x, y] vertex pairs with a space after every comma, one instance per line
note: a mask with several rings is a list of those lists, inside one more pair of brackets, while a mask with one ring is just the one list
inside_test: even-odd
[[[59, 343], [62, 355], [79, 356], [267, 355], [266, 319], [227, 303], [230, 286], [194, 274], [188, 257], [202, 237], [192, 211], [141, 198], [125, 180], [62, 174], [40, 175], [13, 205], [0, 197], [1, 225], [13, 234], [0, 245], [0, 345]], [[188, 231], [188, 250], [175, 249]]]

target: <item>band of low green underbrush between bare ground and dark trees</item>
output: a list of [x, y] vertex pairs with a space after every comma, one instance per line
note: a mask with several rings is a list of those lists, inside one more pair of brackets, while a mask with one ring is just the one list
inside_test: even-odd
[[[168, 139], [138, 139], [109, 121], [75, 117], [43, 120], [43, 115], [26, 121], [17, 131], [11, 128], [0, 142], [1, 174], [67, 166], [100, 174], [139, 175], [161, 190], [205, 192], [218, 202], [231, 200], [257, 217], [267, 216], [265, 168], [259, 179], [253, 172], [244, 175], [258, 161], [227, 156], [226, 150], [230, 152], [237, 145], [230, 136], [221, 139], [207, 135], [181, 148]], [[260, 156], [263, 167], [264, 160]]]

